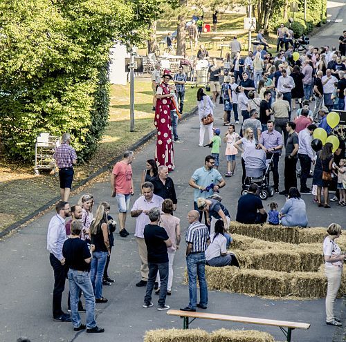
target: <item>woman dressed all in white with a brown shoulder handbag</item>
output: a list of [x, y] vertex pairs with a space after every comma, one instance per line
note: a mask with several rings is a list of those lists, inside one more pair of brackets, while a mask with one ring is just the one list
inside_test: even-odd
[[204, 93], [203, 88], [199, 88], [197, 91], [197, 106], [198, 106], [198, 115], [199, 115], [199, 145], [203, 146], [204, 133], [208, 129], [209, 142], [212, 140], [212, 123], [214, 122], [214, 113], [212, 100], [206, 93]]

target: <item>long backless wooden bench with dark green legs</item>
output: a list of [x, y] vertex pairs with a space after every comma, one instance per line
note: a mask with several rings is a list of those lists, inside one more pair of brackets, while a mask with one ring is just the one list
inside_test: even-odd
[[[273, 319], [255, 319], [251, 317], [241, 317], [241, 316], [228, 316], [226, 314], [208, 314], [207, 312], [188, 312], [181, 310], [168, 310], [168, 315], [180, 316], [183, 319], [183, 328], [188, 329], [190, 323], [195, 319], [215, 319], [217, 321], [228, 321], [228, 322], [239, 322], [239, 323], [249, 323], [249, 324], [259, 324], [259, 325], [271, 325], [273, 327], [280, 327], [280, 330], [286, 336], [286, 341], [291, 341], [292, 331], [295, 329], [309, 329], [310, 324], [308, 323], [297, 323], [297, 322], [287, 322], [287, 321], [276, 321]], [[189, 321], [189, 319], [192, 321]], [[285, 330], [284, 328], [287, 328]]]

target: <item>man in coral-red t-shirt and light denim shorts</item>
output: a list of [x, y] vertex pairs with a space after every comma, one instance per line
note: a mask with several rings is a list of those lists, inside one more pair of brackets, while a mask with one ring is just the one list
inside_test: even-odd
[[133, 151], [125, 151], [122, 160], [117, 162], [111, 173], [112, 197], [116, 196], [118, 202], [119, 234], [126, 238], [129, 232], [125, 229], [126, 213], [129, 210], [130, 196], [134, 194], [134, 181], [132, 180], [131, 162], [134, 160]]

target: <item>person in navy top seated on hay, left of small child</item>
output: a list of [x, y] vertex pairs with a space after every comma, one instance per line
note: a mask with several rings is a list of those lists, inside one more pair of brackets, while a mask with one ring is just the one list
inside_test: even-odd
[[266, 222], [267, 213], [262, 200], [257, 196], [257, 191], [258, 185], [253, 183], [248, 188], [248, 193], [239, 198], [235, 218], [237, 222], [248, 224]]

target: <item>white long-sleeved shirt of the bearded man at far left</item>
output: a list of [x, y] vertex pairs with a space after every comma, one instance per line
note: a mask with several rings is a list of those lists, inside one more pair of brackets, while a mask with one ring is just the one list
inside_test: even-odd
[[47, 233], [47, 249], [57, 260], [62, 260], [64, 258], [62, 255], [62, 246], [65, 240], [67, 240], [65, 220], [57, 213], [51, 218]]

